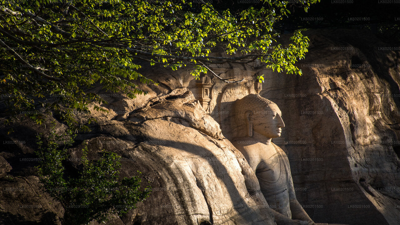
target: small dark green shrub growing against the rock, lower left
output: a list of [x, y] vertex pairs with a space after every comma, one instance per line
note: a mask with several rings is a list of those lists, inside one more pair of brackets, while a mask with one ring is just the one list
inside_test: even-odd
[[73, 139], [72, 130], [64, 136], [53, 130], [44, 147], [43, 139], [38, 135], [36, 154], [43, 159], [38, 166], [40, 181], [45, 191], [64, 207], [62, 224], [81, 225], [94, 220], [100, 223], [106, 221], [109, 213], [127, 213], [148, 196], [150, 189], [139, 191], [139, 177], [124, 177], [118, 181], [120, 156], [103, 152], [100, 160], [90, 161], [86, 145], [79, 160], [82, 171], [76, 177], [68, 177], [63, 164], [68, 157], [65, 147], [71, 145]]

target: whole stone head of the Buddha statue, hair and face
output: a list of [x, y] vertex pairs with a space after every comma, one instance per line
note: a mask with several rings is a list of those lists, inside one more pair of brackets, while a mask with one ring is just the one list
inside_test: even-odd
[[239, 137], [252, 137], [256, 132], [267, 138], [276, 138], [285, 127], [278, 106], [259, 94], [236, 100], [234, 110]]

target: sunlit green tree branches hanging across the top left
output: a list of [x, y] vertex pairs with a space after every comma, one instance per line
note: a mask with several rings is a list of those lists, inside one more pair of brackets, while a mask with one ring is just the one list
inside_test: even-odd
[[[301, 7], [307, 11], [316, 1], [301, 1]], [[240, 10], [199, 2], [1, 0], [0, 91], [10, 114], [28, 112], [41, 123], [38, 108], [46, 108], [73, 121], [73, 110], [88, 112], [90, 102], [105, 102], [87, 91], [95, 85], [134, 98], [143, 93], [138, 82], [156, 84], [137, 71], [137, 60], [186, 69], [196, 78], [217, 76], [208, 64], [256, 60], [301, 75], [294, 63], [304, 58], [308, 39], [296, 31], [288, 46], [274, 43], [273, 25], [290, 13], [288, 1], [262, 0]], [[213, 54], [220, 51], [226, 56]]]

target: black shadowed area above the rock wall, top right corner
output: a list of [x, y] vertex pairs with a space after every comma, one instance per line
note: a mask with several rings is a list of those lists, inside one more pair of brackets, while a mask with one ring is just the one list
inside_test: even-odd
[[399, 16], [400, 5], [393, 1], [320, 1], [311, 5], [308, 12], [301, 7], [301, 1], [289, 2], [291, 13], [274, 25], [281, 33], [301, 28], [351, 28], [370, 30], [380, 40], [400, 40], [400, 26], [395, 20]]

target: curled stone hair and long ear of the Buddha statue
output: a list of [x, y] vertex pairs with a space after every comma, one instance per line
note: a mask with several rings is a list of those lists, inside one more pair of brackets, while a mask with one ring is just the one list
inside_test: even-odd
[[232, 123], [232, 128], [236, 131], [236, 136], [252, 136], [252, 127], [248, 127], [246, 124], [246, 112], [250, 111], [254, 113], [256, 110], [264, 111], [265, 107], [271, 104], [276, 105], [274, 102], [261, 97], [259, 94], [249, 94], [236, 100], [233, 105], [234, 121]]

